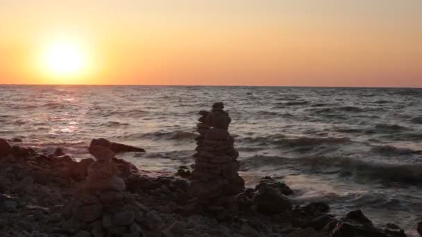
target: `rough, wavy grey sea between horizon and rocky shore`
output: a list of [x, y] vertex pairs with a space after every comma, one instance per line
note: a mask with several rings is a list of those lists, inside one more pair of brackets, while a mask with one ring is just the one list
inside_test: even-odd
[[140, 146], [142, 170], [193, 163], [197, 112], [223, 101], [242, 176], [282, 178], [294, 202], [362, 209], [375, 224], [422, 218], [422, 89], [0, 86], [0, 137], [76, 159], [93, 138]]

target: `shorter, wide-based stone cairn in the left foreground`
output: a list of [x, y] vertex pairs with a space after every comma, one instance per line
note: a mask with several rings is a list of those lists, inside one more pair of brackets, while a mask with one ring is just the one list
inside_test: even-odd
[[146, 210], [124, 192], [126, 184], [112, 162], [115, 153], [103, 146], [92, 146], [90, 152], [96, 160], [85, 184], [62, 211], [62, 229], [78, 237], [144, 236], [140, 222]]

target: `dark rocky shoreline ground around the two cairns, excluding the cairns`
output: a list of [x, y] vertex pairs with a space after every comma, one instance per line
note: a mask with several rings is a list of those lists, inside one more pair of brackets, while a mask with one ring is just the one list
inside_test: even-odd
[[[9, 143], [12, 146], [8, 150]], [[72, 231], [78, 229], [65, 228], [62, 209], [85, 182], [89, 159], [75, 161], [60, 149], [43, 155], [20, 147], [18, 143], [0, 141], [1, 231], [6, 236], [75, 236], [78, 233]], [[113, 161], [119, 167], [119, 177], [126, 182], [128, 193], [146, 207], [144, 217], [152, 216], [154, 220], [153, 223], [142, 221], [144, 236], [341, 237], [354, 231], [366, 233], [364, 236], [371, 236], [368, 233], [406, 236], [396, 225], [388, 224], [385, 229], [374, 227], [358, 210], [349, 212], [346, 217], [332, 216], [328, 204], [323, 202], [273, 212], [280, 207], [277, 198], [288, 198], [292, 190], [271, 177], [262, 177], [255, 188], [246, 188], [239, 193], [239, 213], [219, 220], [216, 216], [195, 213], [187, 208], [187, 201], [192, 199], [187, 192], [188, 168], [180, 169], [174, 175], [151, 174], [137, 170], [123, 159]], [[253, 198], [259, 193], [265, 193], [262, 203]], [[406, 234], [416, 236], [416, 230]]]

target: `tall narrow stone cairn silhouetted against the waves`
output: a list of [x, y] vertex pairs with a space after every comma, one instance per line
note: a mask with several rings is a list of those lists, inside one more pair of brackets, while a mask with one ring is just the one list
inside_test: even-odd
[[239, 207], [235, 196], [244, 190], [239, 170], [239, 152], [228, 132], [231, 118], [223, 103], [214, 103], [211, 112], [201, 111], [196, 137], [196, 153], [189, 194], [195, 209], [214, 213], [217, 218], [234, 216]]

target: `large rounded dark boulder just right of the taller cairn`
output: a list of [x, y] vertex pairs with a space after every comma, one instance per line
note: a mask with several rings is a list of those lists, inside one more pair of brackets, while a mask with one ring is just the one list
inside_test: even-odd
[[261, 188], [252, 198], [253, 205], [258, 211], [273, 215], [292, 210], [292, 204], [275, 188]]

